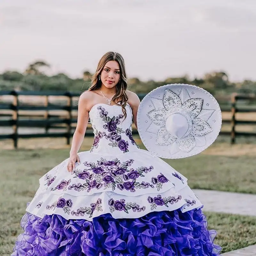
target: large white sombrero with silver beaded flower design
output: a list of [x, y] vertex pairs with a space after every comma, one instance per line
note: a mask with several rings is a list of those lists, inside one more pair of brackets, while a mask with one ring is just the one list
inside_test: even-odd
[[167, 84], [140, 102], [140, 138], [155, 156], [184, 158], [199, 154], [218, 137], [220, 106], [204, 89], [189, 84]]

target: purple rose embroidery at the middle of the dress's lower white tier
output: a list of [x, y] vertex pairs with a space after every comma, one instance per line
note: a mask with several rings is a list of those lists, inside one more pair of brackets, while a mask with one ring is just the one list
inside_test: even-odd
[[140, 207], [139, 204], [136, 203], [125, 203], [125, 199], [120, 199], [119, 200], [114, 200], [113, 198], [110, 198], [108, 200], [108, 205], [110, 206], [110, 212], [114, 212], [114, 211], [124, 211], [126, 213], [129, 213], [128, 210], [132, 209], [133, 212], [141, 212], [141, 211], [145, 211], [146, 207], [142, 206]]

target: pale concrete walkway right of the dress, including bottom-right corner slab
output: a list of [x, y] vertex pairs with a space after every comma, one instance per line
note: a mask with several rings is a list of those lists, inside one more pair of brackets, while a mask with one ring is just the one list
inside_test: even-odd
[[[256, 195], [193, 189], [204, 204], [203, 211], [256, 216]], [[221, 256], [256, 256], [256, 245], [222, 253]]]

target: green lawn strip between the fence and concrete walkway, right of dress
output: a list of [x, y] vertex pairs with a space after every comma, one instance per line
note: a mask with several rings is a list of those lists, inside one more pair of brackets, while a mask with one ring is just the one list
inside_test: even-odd
[[199, 154], [164, 161], [188, 178], [190, 188], [256, 194], [256, 157], [253, 155]]

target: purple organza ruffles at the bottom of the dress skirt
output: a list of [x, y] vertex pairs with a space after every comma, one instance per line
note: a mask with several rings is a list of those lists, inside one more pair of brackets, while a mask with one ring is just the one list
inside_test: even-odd
[[104, 214], [88, 220], [43, 219], [26, 213], [12, 255], [22, 256], [216, 256], [216, 231], [202, 210], [150, 212], [137, 219]]

